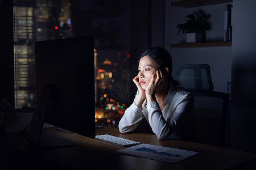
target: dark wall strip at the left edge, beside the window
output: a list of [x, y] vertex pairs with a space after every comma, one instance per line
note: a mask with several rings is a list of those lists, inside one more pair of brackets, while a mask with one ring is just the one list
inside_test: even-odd
[[0, 97], [14, 105], [13, 1], [0, 0]]

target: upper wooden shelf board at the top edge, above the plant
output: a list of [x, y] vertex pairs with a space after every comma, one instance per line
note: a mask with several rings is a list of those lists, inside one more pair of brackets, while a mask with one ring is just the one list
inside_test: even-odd
[[191, 8], [229, 2], [233, 2], [233, 0], [183, 0], [179, 2], [172, 2], [171, 6]]

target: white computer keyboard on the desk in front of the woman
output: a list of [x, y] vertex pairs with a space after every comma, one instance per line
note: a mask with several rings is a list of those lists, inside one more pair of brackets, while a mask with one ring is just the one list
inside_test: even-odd
[[119, 138], [119, 137], [114, 137], [114, 136], [108, 135], [108, 134], [96, 135], [95, 139], [97, 139], [99, 141], [111, 143], [113, 145], [122, 146], [122, 147], [134, 146], [134, 145], [141, 144], [140, 142], [135, 142], [135, 141], [131, 141], [129, 139], [123, 139], [123, 138]]

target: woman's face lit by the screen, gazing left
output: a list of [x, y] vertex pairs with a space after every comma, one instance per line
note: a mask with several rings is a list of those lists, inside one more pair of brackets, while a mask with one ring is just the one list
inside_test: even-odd
[[139, 60], [139, 83], [143, 90], [146, 90], [152, 75], [156, 73], [158, 70], [159, 65], [150, 57], [144, 56]]

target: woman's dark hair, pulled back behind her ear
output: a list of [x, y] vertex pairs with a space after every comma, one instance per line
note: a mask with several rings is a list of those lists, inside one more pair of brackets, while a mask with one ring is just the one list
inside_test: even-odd
[[179, 83], [174, 80], [172, 77], [172, 58], [170, 53], [162, 48], [162, 47], [151, 47], [144, 51], [139, 57], [141, 59], [144, 56], [148, 56], [151, 59], [153, 59], [158, 65], [159, 65], [159, 70], [164, 71], [164, 68], [168, 68], [169, 73], [168, 73], [168, 80], [177, 86]]

